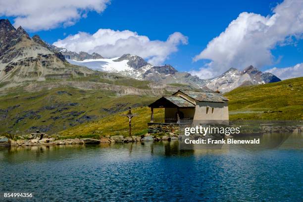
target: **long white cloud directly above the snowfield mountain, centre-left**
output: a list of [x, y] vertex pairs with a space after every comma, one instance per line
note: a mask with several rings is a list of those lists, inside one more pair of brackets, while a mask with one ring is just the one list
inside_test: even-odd
[[187, 37], [180, 32], [169, 35], [166, 41], [151, 41], [147, 36], [129, 30], [99, 29], [92, 35], [85, 32], [70, 35], [56, 41], [53, 45], [76, 52], [97, 52], [106, 58], [118, 57], [125, 53], [136, 54], [158, 65], [172, 52], [176, 52], [178, 45], [187, 43]]

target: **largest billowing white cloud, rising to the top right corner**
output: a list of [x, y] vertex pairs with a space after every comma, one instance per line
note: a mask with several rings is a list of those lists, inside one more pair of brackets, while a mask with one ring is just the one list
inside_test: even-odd
[[275, 58], [271, 50], [294, 43], [302, 34], [302, 0], [284, 0], [273, 9], [271, 16], [243, 12], [194, 57], [194, 61], [212, 61], [196, 74], [202, 75], [205, 68], [218, 75], [230, 67], [242, 70], [249, 65], [260, 68], [273, 64]]

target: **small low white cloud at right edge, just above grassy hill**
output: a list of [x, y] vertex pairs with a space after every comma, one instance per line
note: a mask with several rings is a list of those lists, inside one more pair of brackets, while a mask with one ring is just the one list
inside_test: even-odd
[[295, 78], [295, 77], [302, 77], [303, 76], [303, 63], [296, 64], [292, 67], [285, 67], [285, 68], [271, 68], [267, 69], [265, 72], [270, 72], [276, 75], [281, 80]]

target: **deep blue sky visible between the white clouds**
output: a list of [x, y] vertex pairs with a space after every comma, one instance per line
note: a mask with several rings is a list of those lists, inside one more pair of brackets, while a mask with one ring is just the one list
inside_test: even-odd
[[[167, 40], [169, 35], [180, 32], [188, 38], [188, 43], [175, 45], [173, 48], [178, 50], [167, 53], [165, 59], [159, 61], [161, 64], [171, 64], [179, 71], [194, 70], [199, 75], [199, 70], [202, 67], [207, 68], [205, 65], [211, 60], [202, 58], [193, 61], [193, 58], [199, 55], [211, 40], [224, 32], [228, 25], [237, 19], [240, 13], [248, 12], [264, 17], [271, 16], [274, 14], [273, 8], [282, 2], [282, 0], [111, 0], [106, 8], [101, 8], [97, 10], [98, 12], [90, 8], [83, 9], [85, 11], [82, 11], [82, 13], [85, 13], [86, 17], [77, 18], [72, 23], [73, 25], [63, 25], [63, 21], [63, 23], [58, 23], [51, 28], [41, 28], [44, 30], [39, 30], [39, 28], [31, 29], [30, 24], [21, 25], [25, 27], [31, 36], [38, 34], [50, 44], [58, 39], [63, 40], [69, 35], [75, 35], [79, 31], [94, 34], [99, 29], [130, 30], [138, 33], [138, 35], [148, 37], [151, 41], [160, 40], [163, 42]], [[14, 19], [19, 16], [17, 11], [17, 14], [10, 14], [8, 11], [6, 13], [5, 11], [1, 12], [0, 9], [1, 13], [2, 18], [8, 18], [11, 22], [14, 22]], [[16, 26], [17, 24], [16, 22], [14, 25]], [[271, 64], [261, 61], [256, 63], [260, 64], [258, 68], [261, 70], [273, 67], [291, 67], [303, 62], [302, 38], [295, 39], [288, 45], [270, 46], [270, 52], [273, 56], [272, 62]], [[209, 54], [215, 54], [215, 52]], [[237, 53], [235, 54], [237, 55]], [[213, 58], [212, 55], [210, 57]], [[222, 62], [224, 62], [224, 59]], [[230, 63], [230, 65], [233, 64], [235, 63]], [[242, 64], [237, 65], [236, 68], [241, 69]], [[247, 64], [243, 63], [243, 68], [245, 67], [244, 65]], [[211, 68], [212, 71], [224, 71], [227, 67], [221, 69], [219, 67]]]

